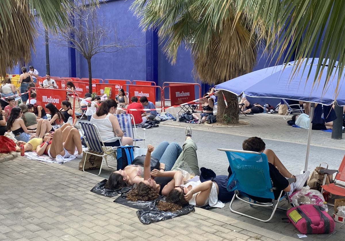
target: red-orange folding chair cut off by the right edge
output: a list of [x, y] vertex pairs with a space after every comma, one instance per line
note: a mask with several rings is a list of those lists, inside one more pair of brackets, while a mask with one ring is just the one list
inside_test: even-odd
[[[321, 193], [323, 192], [323, 190], [326, 190], [326, 191], [328, 191], [332, 194], [338, 195], [338, 196], [345, 196], [345, 185], [337, 183], [337, 181], [345, 182], [345, 169], [344, 168], [345, 168], [345, 155], [343, 157], [343, 160], [342, 160], [338, 170], [330, 170], [330, 169], [319, 170], [320, 173], [332, 175], [332, 177], [333, 177], [334, 173], [337, 173], [335, 175], [334, 181], [330, 184], [327, 184], [327, 185], [325, 185], [325, 182], [326, 182], [326, 178], [328, 178], [328, 177], [327, 177], [327, 175], [325, 175], [323, 185], [321, 186], [322, 187]], [[332, 204], [329, 204], [328, 202], [327, 202], [327, 204], [330, 206], [334, 206]]]

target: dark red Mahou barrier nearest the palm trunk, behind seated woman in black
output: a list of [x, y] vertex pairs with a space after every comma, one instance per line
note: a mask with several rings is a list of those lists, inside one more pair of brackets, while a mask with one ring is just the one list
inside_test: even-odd
[[[198, 87], [199, 96], [196, 97], [195, 87]], [[165, 89], [169, 88], [169, 97], [165, 98]], [[178, 83], [178, 82], [164, 82], [163, 83], [163, 106], [165, 105], [165, 100], [170, 100], [170, 106], [180, 105], [186, 102], [194, 101], [196, 98], [201, 98], [201, 86], [197, 83]], [[201, 109], [201, 104], [199, 103], [199, 109]]]

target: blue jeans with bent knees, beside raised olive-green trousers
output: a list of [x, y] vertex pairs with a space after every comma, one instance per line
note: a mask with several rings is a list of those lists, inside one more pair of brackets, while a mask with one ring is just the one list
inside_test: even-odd
[[165, 170], [170, 171], [181, 153], [182, 148], [178, 143], [172, 142], [169, 144], [164, 141], [152, 151], [151, 156], [157, 158], [160, 163], [164, 163]]

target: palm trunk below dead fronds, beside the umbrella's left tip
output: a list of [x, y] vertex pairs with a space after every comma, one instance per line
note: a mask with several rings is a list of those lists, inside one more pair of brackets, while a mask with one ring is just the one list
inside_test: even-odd
[[[223, 94], [228, 107], [225, 105]], [[217, 122], [223, 124], [238, 123], [238, 99], [235, 94], [228, 91], [218, 92]]]

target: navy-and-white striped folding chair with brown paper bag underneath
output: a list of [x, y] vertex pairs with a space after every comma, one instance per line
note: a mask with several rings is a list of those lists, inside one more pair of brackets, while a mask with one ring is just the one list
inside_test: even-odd
[[[104, 142], [99, 134], [98, 128], [96, 125], [91, 123], [85, 123], [85, 122], [79, 122], [80, 129], [82, 130], [83, 137], [85, 137], [86, 144], [88, 147], [88, 150], [84, 151], [86, 153], [84, 163], [83, 163], [83, 171], [90, 173], [95, 176], [99, 176], [102, 170], [103, 161], [106, 161], [106, 164], [108, 167], [116, 169], [116, 167], [109, 166], [107, 156], [110, 154], [115, 154], [116, 149], [113, 149], [112, 147], [108, 147], [104, 145]], [[115, 142], [116, 140], [120, 141], [121, 145], [121, 137], [114, 137], [111, 138], [111, 142]], [[99, 168], [98, 174], [93, 174], [91, 172], [85, 171], [85, 162], [87, 160], [88, 155], [95, 155], [102, 157], [102, 163]]]

